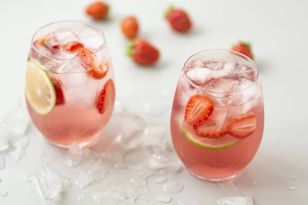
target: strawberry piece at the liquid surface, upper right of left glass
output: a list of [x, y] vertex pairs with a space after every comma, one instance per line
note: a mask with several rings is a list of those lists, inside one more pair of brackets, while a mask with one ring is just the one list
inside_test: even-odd
[[102, 79], [105, 77], [109, 70], [108, 61], [103, 61], [100, 65], [96, 66], [94, 63], [96, 55], [87, 48], [81, 48], [79, 52], [81, 63], [87, 70], [87, 75], [93, 79]]

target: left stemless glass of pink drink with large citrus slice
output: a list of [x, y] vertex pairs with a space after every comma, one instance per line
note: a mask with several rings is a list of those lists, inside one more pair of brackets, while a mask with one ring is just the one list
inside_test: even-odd
[[36, 31], [29, 51], [25, 95], [33, 124], [58, 147], [94, 144], [113, 110], [115, 89], [103, 33], [63, 21]]

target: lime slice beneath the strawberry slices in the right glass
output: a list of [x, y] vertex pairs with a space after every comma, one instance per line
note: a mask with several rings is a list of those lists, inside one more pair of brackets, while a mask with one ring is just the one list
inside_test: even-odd
[[199, 137], [194, 129], [189, 127], [189, 125], [183, 126], [184, 130], [182, 131], [183, 136], [192, 144], [197, 147], [206, 150], [224, 150], [230, 147], [236, 146], [243, 139], [238, 139], [231, 135], [224, 135], [220, 138], [205, 138]]

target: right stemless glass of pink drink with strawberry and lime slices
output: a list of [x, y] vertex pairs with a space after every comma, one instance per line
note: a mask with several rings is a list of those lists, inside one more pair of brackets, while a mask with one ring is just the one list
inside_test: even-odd
[[206, 50], [186, 61], [172, 107], [171, 136], [192, 175], [208, 181], [239, 175], [258, 151], [263, 127], [262, 87], [252, 59]]

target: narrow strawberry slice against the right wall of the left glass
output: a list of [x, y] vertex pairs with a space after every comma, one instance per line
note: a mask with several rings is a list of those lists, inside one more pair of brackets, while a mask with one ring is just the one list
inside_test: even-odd
[[114, 104], [115, 90], [112, 79], [109, 79], [96, 98], [97, 109], [103, 114]]

